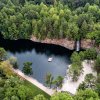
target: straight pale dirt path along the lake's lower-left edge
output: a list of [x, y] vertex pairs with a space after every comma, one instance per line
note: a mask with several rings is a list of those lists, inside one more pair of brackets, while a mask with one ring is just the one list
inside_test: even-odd
[[34, 84], [35, 86], [37, 86], [38, 88], [46, 92], [47, 94], [49, 94], [50, 96], [54, 94], [54, 90], [45, 87], [43, 84], [39, 83], [36, 79], [22, 73], [19, 69], [17, 70], [13, 69], [13, 71], [19, 76], [21, 76], [22, 78], [26, 79], [27, 81], [31, 82], [32, 84]]

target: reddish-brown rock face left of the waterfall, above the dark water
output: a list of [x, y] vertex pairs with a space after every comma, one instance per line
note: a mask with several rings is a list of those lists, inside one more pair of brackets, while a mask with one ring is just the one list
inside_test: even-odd
[[39, 41], [38, 39], [36, 39], [36, 37], [32, 36], [31, 40], [35, 42], [60, 45], [70, 50], [73, 50], [74, 45], [75, 45], [74, 41], [68, 40], [68, 39], [48, 39], [46, 38], [44, 40]]

